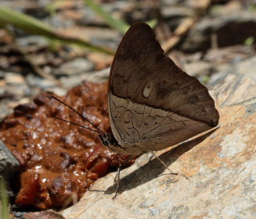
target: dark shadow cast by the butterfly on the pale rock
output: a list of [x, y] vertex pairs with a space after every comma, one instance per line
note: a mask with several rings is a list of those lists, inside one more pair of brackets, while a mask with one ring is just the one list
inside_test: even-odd
[[[218, 129], [218, 128], [216, 128]], [[175, 162], [179, 156], [186, 153], [186, 151], [191, 150], [197, 144], [203, 142], [208, 136], [211, 136], [216, 129], [213, 129], [196, 139], [186, 141], [185, 143], [179, 144], [177, 147], [168, 150], [164, 154], [161, 154], [159, 158], [164, 161], [164, 163], [169, 167], [173, 162]], [[165, 167], [157, 158], [152, 159], [147, 164], [133, 171], [132, 173], [126, 175], [124, 178], [120, 179], [120, 187], [118, 193], [121, 194], [124, 191], [134, 189], [139, 185], [146, 182], [150, 182], [153, 178], [160, 177], [165, 171]], [[171, 182], [177, 182], [177, 178], [170, 174]], [[106, 189], [104, 194], [114, 194], [117, 189], [117, 182]]]

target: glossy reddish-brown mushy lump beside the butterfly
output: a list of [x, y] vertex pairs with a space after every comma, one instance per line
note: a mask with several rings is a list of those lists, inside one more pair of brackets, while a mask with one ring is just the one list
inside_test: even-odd
[[[99, 129], [110, 132], [106, 87], [106, 83], [85, 83], [59, 99]], [[99, 133], [52, 118], [53, 115], [94, 129], [49, 94], [38, 95], [34, 103], [19, 105], [0, 124], [0, 139], [20, 162], [20, 171], [12, 183], [18, 191], [16, 204], [21, 207], [67, 206], [79, 200], [99, 177], [128, 159], [106, 150]]]

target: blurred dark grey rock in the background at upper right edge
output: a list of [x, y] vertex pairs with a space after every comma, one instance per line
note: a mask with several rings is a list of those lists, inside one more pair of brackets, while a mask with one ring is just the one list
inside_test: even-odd
[[248, 37], [256, 38], [256, 17], [252, 12], [240, 12], [202, 19], [193, 27], [181, 44], [182, 51], [206, 51], [211, 48], [213, 36], [216, 44], [222, 48], [234, 44], [243, 44]]

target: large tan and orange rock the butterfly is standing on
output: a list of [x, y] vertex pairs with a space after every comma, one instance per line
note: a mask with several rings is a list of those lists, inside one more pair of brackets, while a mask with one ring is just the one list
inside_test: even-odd
[[121, 171], [115, 200], [116, 173], [112, 173], [63, 210], [63, 216], [255, 218], [256, 84], [245, 76], [229, 75], [215, 83], [211, 94], [220, 113], [219, 127], [157, 152], [179, 175], [168, 175], [157, 159], [144, 154]]

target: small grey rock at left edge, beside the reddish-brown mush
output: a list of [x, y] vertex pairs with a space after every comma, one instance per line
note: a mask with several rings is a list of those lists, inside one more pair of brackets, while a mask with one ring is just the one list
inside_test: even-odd
[[13, 157], [13, 154], [2, 140], [0, 140], [0, 175], [8, 182], [18, 170], [19, 166], [19, 162]]

